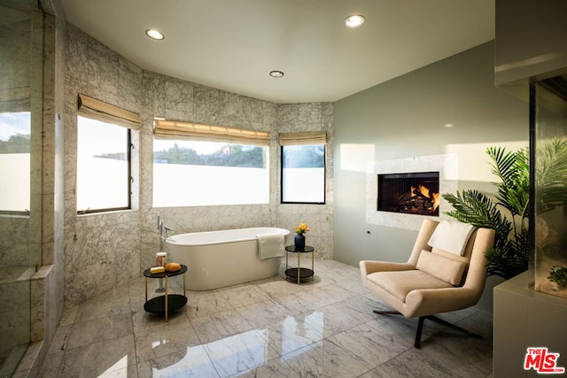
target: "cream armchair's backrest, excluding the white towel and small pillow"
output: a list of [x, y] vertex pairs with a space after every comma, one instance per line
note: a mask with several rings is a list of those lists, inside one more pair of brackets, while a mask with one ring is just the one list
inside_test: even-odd
[[488, 267], [485, 252], [493, 246], [494, 230], [490, 228], [477, 228], [470, 235], [463, 256], [457, 256], [454, 253], [443, 251], [439, 248], [431, 248], [428, 244], [431, 235], [433, 235], [438, 225], [439, 221], [437, 220], [423, 220], [408, 263], [416, 266], [422, 251], [431, 251], [431, 253], [439, 254], [446, 258], [462, 261], [467, 266], [462, 276], [462, 286], [474, 289], [478, 291], [479, 294], [482, 293], [485, 287], [486, 269]]

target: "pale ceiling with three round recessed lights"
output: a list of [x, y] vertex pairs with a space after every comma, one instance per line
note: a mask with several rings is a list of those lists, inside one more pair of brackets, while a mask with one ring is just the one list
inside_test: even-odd
[[[333, 102], [494, 38], [494, 0], [60, 3], [68, 21], [145, 70], [278, 104]], [[353, 13], [366, 23], [345, 27]], [[151, 40], [149, 28], [166, 38]]]

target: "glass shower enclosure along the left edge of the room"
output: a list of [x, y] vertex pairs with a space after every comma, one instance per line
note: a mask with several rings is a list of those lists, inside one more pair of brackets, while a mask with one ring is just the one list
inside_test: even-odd
[[42, 260], [43, 12], [0, 0], [0, 376], [31, 340], [30, 278]]

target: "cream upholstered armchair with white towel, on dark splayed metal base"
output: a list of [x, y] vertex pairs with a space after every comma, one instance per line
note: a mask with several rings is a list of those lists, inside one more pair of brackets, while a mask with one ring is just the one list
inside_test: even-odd
[[485, 251], [493, 242], [493, 229], [424, 220], [407, 263], [360, 262], [364, 285], [396, 310], [374, 312], [419, 317], [416, 348], [420, 347], [425, 319], [476, 336], [433, 315], [478, 303], [486, 281]]

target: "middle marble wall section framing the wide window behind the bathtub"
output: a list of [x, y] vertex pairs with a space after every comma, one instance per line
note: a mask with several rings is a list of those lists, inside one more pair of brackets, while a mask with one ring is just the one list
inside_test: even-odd
[[270, 132], [270, 170], [276, 170], [276, 104], [144, 71], [141, 139], [141, 266], [152, 266], [159, 251], [158, 214], [175, 234], [214, 229], [276, 226], [273, 205], [275, 174], [271, 174], [270, 204], [152, 207], [152, 120], [165, 117], [213, 125]]

